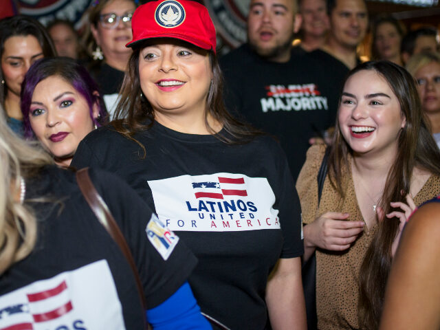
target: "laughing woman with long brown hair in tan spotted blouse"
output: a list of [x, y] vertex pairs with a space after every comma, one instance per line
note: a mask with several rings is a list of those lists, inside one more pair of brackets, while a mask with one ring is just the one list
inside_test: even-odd
[[388, 61], [349, 72], [329, 146], [311, 146], [296, 187], [305, 260], [316, 253], [319, 329], [377, 329], [391, 259], [416, 205], [440, 193], [440, 151], [415, 81]]

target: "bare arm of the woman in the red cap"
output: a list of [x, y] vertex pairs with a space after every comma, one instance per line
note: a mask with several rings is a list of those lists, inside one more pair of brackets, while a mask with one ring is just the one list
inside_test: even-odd
[[300, 257], [279, 259], [266, 287], [272, 329], [307, 329]]

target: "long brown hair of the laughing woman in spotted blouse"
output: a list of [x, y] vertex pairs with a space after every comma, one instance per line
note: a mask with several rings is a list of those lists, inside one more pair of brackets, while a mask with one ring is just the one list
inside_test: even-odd
[[[362, 63], [349, 72], [347, 79], [362, 70], [377, 72], [386, 80], [399, 100], [401, 114], [406, 126], [401, 129], [395, 162], [391, 166], [380, 199], [385, 214], [395, 210], [391, 201], [406, 203], [410, 192], [412, 171], [415, 166], [440, 176], [440, 151], [428, 126], [428, 120], [421, 110], [415, 80], [403, 67], [389, 61]], [[347, 80], [346, 80], [347, 81]], [[342, 137], [338, 120], [336, 133], [329, 154], [329, 175], [331, 183], [341, 196], [344, 168], [349, 168], [348, 155], [352, 153]], [[360, 268], [359, 320], [361, 329], [377, 329], [384, 301], [386, 280], [391, 267], [391, 245], [399, 228], [399, 219], [386, 219], [378, 223], [379, 228], [366, 251]]]

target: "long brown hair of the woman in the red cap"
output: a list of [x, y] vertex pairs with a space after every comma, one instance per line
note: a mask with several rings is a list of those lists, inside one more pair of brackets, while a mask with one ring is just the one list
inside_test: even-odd
[[[194, 49], [195, 46], [188, 44], [188, 47]], [[141, 48], [142, 47], [137, 47], [134, 49], [130, 57], [128, 69], [120, 91], [120, 101], [115, 111], [115, 120], [113, 121], [113, 126], [115, 126], [116, 131], [131, 140], [134, 140], [132, 136], [135, 132], [150, 128], [154, 120], [153, 107], [151, 107], [150, 102], [148, 102], [145, 96], [141, 96], [142, 89], [140, 87], [139, 78], [139, 56]], [[208, 52], [198, 48], [196, 51]], [[208, 52], [208, 56], [212, 69], [212, 81], [206, 98], [206, 128], [212, 135], [225, 143], [236, 144], [248, 142], [252, 140], [255, 135], [261, 133], [248, 124], [236, 120], [227, 111], [223, 102], [223, 77], [217, 57], [214, 52], [211, 51]], [[224, 133], [216, 133], [212, 127], [210, 127], [208, 115], [211, 115], [214, 120], [217, 120], [223, 125], [222, 132]]]

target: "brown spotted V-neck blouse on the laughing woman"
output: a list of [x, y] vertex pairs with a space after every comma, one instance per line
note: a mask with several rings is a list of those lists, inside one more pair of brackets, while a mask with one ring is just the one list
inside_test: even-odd
[[[315, 145], [307, 151], [306, 162], [300, 172], [296, 189], [303, 211], [303, 223], [311, 223], [325, 212], [348, 212], [349, 221], [363, 221], [355, 195], [351, 172], [345, 170], [342, 199], [329, 183], [328, 176], [322, 188], [318, 208], [316, 177], [325, 153], [325, 146]], [[349, 159], [351, 162], [351, 159]], [[418, 206], [440, 193], [440, 177], [432, 175], [414, 198]], [[359, 272], [364, 254], [377, 230], [365, 226], [363, 234], [344, 252], [316, 250], [316, 301], [318, 328], [358, 329]]]

